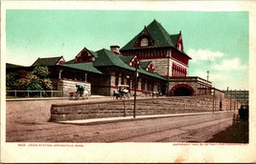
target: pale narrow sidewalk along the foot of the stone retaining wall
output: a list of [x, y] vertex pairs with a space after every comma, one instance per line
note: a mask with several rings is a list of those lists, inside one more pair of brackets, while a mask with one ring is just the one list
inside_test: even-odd
[[[215, 112], [215, 113], [227, 113], [227, 112]], [[133, 118], [133, 116], [91, 118], [91, 119], [81, 119], [81, 120], [58, 121], [57, 123], [85, 125], [85, 124], [100, 124], [100, 123], [111, 123], [111, 122], [118, 122], [118, 121], [142, 120], [142, 119], [153, 119], [153, 118], [164, 118], [164, 117], [175, 117], [175, 116], [186, 116], [186, 115], [199, 115], [199, 114], [212, 114], [212, 113], [172, 113], [172, 114], [158, 114], [158, 115], [137, 115], [135, 118]]]

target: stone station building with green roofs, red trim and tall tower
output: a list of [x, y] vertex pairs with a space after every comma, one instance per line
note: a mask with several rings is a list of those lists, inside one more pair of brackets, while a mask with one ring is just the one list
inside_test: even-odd
[[213, 88], [210, 81], [189, 76], [191, 59], [184, 51], [181, 31], [169, 34], [153, 20], [121, 49], [117, 45], [111, 46], [110, 50], [100, 51], [90, 51], [84, 47], [71, 61], [65, 61], [63, 56], [38, 58], [31, 67], [13, 67], [9, 64], [7, 72], [47, 66], [54, 90], [65, 94], [74, 91], [76, 83], [84, 83], [92, 94], [102, 95], [110, 95], [121, 84], [130, 86], [131, 93], [136, 88], [138, 94], [211, 94]]

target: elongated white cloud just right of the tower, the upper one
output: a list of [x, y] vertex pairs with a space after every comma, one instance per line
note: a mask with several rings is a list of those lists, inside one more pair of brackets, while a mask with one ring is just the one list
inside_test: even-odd
[[222, 57], [225, 54], [221, 51], [210, 51], [210, 50], [194, 50], [190, 49], [187, 51], [188, 55], [192, 57], [192, 61], [213, 61], [216, 58]]

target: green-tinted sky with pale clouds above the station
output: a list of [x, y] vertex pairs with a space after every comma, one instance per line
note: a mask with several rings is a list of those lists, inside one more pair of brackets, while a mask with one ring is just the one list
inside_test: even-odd
[[31, 66], [40, 57], [66, 61], [91, 51], [125, 46], [155, 19], [170, 34], [182, 32], [192, 57], [189, 76], [220, 90], [248, 90], [247, 11], [7, 10], [6, 62]]

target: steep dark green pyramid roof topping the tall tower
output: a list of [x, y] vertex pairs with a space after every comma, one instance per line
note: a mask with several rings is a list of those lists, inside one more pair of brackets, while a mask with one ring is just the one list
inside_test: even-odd
[[160, 23], [153, 20], [151, 24], [146, 27], [147, 31], [150, 33], [151, 38], [154, 41], [153, 46], [147, 47], [134, 47], [136, 40], [143, 35], [142, 31], [138, 33], [133, 39], [131, 39], [126, 46], [124, 46], [121, 51], [125, 50], [136, 50], [145, 48], [163, 48], [163, 47], [175, 47], [174, 42], [170, 34], [162, 27]]

